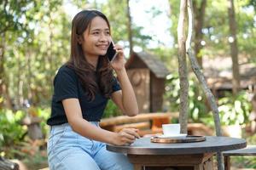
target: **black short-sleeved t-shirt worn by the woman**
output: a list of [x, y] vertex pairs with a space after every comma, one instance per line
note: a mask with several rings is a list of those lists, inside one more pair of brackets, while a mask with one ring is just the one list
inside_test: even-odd
[[[113, 92], [118, 90], [120, 90], [119, 82], [114, 77]], [[67, 122], [61, 101], [70, 98], [79, 99], [83, 118], [90, 122], [101, 120], [108, 103], [108, 98], [99, 92], [96, 93], [95, 99], [90, 101], [75, 71], [67, 65], [62, 65], [54, 79], [54, 94], [51, 102], [51, 116], [47, 121], [48, 125], [60, 125]]]

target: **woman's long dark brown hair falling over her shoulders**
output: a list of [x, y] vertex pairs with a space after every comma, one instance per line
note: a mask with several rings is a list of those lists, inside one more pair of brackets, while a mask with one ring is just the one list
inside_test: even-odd
[[96, 16], [106, 20], [108, 28], [110, 25], [107, 17], [97, 10], [83, 10], [76, 14], [72, 21], [71, 32], [71, 54], [67, 62], [67, 66], [72, 68], [79, 76], [79, 81], [82, 83], [85, 93], [90, 101], [95, 99], [96, 92], [99, 91], [106, 98], [109, 98], [113, 92], [113, 69], [110, 67], [107, 56], [100, 56], [96, 68], [90, 65], [84, 57], [83, 49], [79, 44], [79, 36], [82, 36], [84, 31], [89, 28], [91, 20]]

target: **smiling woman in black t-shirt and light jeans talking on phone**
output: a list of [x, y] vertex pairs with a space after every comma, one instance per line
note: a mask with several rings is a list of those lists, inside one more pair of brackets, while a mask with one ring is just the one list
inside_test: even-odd
[[[132, 144], [137, 129], [119, 133], [99, 127], [108, 99], [127, 116], [138, 113], [137, 100], [125, 71], [123, 48], [110, 63], [112, 41], [107, 17], [96, 10], [79, 12], [72, 22], [71, 55], [54, 80], [48, 142], [51, 170], [129, 170], [127, 157], [106, 150], [106, 144]], [[113, 77], [115, 71], [119, 82]]]

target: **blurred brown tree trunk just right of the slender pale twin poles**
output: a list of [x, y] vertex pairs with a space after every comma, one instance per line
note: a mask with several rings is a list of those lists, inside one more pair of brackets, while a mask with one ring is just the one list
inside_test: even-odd
[[201, 41], [203, 34], [201, 32], [203, 26], [204, 26], [204, 16], [207, 6], [207, 0], [202, 0], [200, 7], [197, 8], [196, 1], [193, 3], [193, 8], [195, 11], [195, 56], [198, 61], [198, 64], [202, 68], [202, 54], [201, 54]]

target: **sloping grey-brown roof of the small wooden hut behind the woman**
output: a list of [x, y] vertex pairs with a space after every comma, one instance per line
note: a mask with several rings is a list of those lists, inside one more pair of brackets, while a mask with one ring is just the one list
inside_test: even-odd
[[157, 58], [154, 54], [148, 54], [146, 52], [139, 52], [131, 54], [130, 59], [127, 60], [126, 66], [131, 65], [134, 57], [138, 57], [142, 59], [143, 63], [148, 66], [148, 69], [154, 73], [155, 77], [158, 78], [166, 78], [166, 76], [170, 73], [166, 68], [166, 65]]

